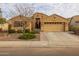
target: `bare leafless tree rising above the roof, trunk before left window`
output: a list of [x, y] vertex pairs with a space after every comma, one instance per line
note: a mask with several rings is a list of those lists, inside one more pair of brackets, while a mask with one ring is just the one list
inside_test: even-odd
[[[20, 16], [30, 17], [33, 15], [35, 9], [34, 4], [15, 4], [15, 10]], [[25, 18], [20, 17], [20, 19], [25, 20]], [[29, 19], [30, 20], [30, 19]], [[23, 33], [25, 33], [27, 25], [22, 24], [23, 26]]]

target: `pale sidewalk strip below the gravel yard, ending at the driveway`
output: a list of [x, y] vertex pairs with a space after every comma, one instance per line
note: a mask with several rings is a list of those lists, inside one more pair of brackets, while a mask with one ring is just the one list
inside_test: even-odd
[[48, 47], [47, 41], [0, 41], [3, 47]]

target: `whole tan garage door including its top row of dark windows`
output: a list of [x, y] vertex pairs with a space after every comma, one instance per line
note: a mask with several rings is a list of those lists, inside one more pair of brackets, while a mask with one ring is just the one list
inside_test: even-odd
[[45, 22], [42, 31], [64, 31], [64, 23], [62, 22]]

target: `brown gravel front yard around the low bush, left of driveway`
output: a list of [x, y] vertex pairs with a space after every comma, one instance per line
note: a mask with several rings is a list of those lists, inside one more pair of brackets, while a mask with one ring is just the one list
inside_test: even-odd
[[[12, 33], [12, 34], [0, 33], [0, 41], [24, 41], [24, 40], [18, 38], [21, 34], [22, 33]], [[36, 36], [36, 38], [28, 39], [25, 41], [39, 41], [40, 34], [35, 34], [35, 36]]]

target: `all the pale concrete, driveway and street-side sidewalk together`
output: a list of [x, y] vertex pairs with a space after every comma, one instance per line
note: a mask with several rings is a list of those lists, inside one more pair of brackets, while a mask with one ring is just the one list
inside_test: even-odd
[[0, 41], [0, 47], [79, 47], [79, 37], [68, 32], [41, 32], [40, 41]]

